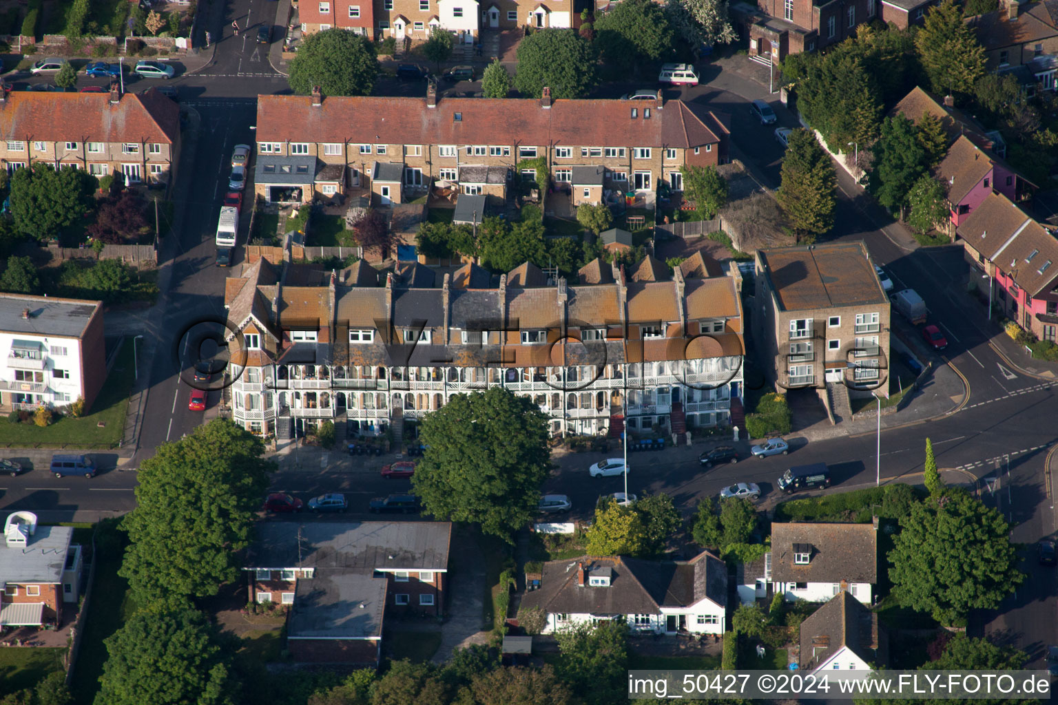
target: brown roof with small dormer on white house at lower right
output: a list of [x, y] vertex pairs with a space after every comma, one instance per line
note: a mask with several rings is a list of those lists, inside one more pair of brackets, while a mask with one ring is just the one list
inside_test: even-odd
[[[794, 563], [794, 544], [811, 546], [807, 565]], [[771, 524], [774, 582], [870, 582], [878, 577], [878, 530], [874, 524]]]

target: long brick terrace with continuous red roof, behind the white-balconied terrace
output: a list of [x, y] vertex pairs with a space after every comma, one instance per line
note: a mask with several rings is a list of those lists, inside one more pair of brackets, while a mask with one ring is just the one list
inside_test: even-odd
[[[369, 188], [383, 205], [448, 182], [507, 198], [515, 173], [551, 181], [578, 202], [604, 190], [682, 189], [680, 168], [728, 161], [729, 117], [682, 100], [257, 97], [256, 192], [267, 201], [335, 200]], [[541, 163], [540, 160], [543, 160]]]

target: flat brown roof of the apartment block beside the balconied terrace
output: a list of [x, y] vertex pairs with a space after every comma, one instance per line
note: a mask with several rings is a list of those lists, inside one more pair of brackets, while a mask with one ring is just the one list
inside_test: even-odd
[[760, 249], [756, 257], [758, 276], [784, 311], [889, 302], [862, 241]]

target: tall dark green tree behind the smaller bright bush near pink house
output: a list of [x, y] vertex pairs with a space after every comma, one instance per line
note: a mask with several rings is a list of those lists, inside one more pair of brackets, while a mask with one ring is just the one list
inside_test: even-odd
[[926, 151], [918, 142], [914, 123], [904, 115], [887, 117], [874, 147], [874, 159], [871, 187], [875, 198], [890, 212], [899, 212], [902, 218], [911, 187], [927, 169]]

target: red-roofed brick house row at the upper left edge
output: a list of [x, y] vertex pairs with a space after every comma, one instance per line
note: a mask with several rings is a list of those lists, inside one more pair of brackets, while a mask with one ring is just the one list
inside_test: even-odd
[[158, 91], [0, 94], [0, 165], [8, 173], [43, 162], [171, 184], [179, 154], [180, 109]]

